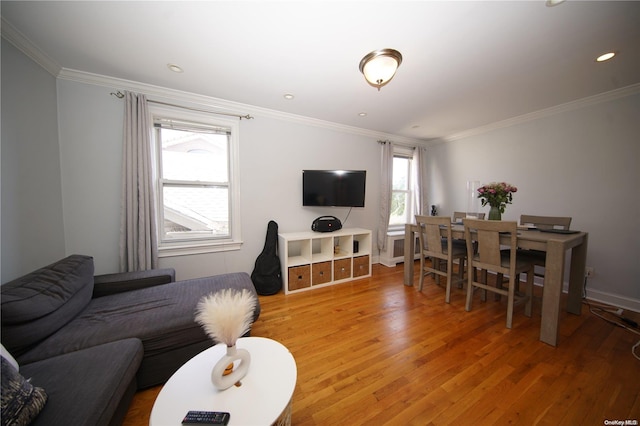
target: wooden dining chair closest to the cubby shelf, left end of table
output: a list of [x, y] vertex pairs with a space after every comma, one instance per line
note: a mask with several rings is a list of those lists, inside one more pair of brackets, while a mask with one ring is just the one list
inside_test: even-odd
[[[451, 238], [451, 219], [446, 216], [416, 215], [418, 225], [418, 241], [420, 244], [420, 285], [422, 291], [424, 277], [433, 274], [435, 278], [445, 277], [447, 280], [445, 302], [451, 300], [451, 285], [453, 283], [453, 261], [459, 260], [457, 282], [464, 282], [464, 259], [466, 248], [455, 247]], [[446, 230], [446, 240], [441, 236], [441, 230]], [[431, 266], [427, 263], [431, 259]], [[442, 269], [446, 263], [446, 269]]]

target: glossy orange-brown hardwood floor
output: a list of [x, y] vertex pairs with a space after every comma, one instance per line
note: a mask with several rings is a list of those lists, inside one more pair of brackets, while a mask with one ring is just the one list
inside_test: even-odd
[[[637, 334], [583, 305], [580, 316], [561, 314], [554, 348], [538, 340], [539, 299], [532, 318], [516, 307], [509, 330], [504, 298], [476, 294], [465, 312], [464, 290], [447, 305], [444, 287], [427, 278], [418, 292], [402, 274], [374, 265], [371, 278], [260, 297], [252, 335], [296, 359], [293, 425], [640, 421]], [[147, 425], [159, 391], [138, 392], [124, 425]]]

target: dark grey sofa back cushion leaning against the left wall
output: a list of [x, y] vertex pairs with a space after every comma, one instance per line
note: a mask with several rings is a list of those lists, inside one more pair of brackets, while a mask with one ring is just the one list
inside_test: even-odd
[[93, 258], [72, 255], [0, 286], [2, 343], [16, 357], [86, 308]]

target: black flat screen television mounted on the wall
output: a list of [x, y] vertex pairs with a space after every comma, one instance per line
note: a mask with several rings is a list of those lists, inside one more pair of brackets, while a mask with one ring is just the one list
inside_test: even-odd
[[302, 205], [364, 207], [366, 170], [303, 170]]

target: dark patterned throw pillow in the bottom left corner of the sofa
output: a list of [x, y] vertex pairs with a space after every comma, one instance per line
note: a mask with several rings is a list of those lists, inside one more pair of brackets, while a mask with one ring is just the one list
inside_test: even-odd
[[47, 402], [47, 393], [25, 380], [5, 357], [1, 358], [2, 425], [28, 425]]

